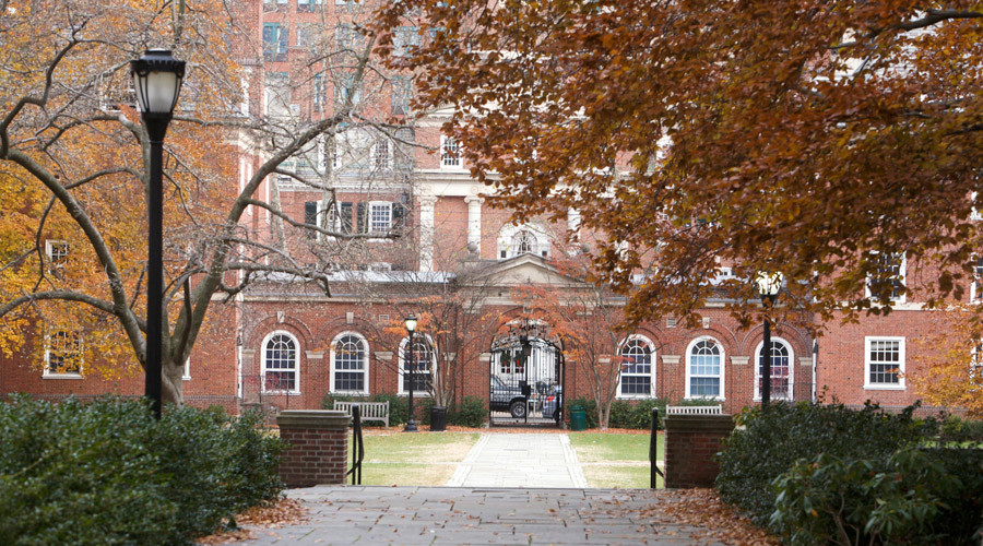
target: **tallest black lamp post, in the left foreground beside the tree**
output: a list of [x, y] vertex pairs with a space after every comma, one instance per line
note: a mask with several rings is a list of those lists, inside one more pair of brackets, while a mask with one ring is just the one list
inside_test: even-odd
[[146, 366], [144, 392], [154, 416], [161, 418], [161, 343], [164, 299], [164, 135], [185, 79], [185, 61], [166, 49], [147, 49], [130, 61], [137, 86], [137, 106], [150, 136], [146, 258]]

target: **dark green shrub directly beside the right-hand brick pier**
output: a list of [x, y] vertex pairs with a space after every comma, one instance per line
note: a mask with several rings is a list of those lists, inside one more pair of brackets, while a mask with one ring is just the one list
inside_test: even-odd
[[839, 404], [807, 402], [777, 403], [767, 412], [760, 407], [745, 410], [738, 425], [746, 428], [725, 439], [718, 454], [716, 489], [756, 523], [767, 525], [774, 512], [774, 478], [798, 460], [812, 460], [817, 453], [887, 459], [927, 434], [925, 424], [912, 418], [913, 411], [908, 407], [892, 415], [876, 405], [853, 411]]

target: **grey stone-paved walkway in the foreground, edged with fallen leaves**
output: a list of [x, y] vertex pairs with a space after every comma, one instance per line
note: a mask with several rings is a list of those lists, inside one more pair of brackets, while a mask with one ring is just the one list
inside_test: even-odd
[[662, 515], [668, 500], [650, 489], [319, 486], [288, 496], [309, 521], [256, 530], [244, 544], [720, 544]]

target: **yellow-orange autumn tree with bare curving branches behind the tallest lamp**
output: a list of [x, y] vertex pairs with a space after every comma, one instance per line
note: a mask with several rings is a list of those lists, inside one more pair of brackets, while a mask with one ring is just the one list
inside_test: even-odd
[[[367, 68], [374, 39], [316, 48], [305, 67], [340, 74], [346, 93], [317, 116], [281, 116], [244, 96], [249, 73], [239, 61], [264, 51], [237, 19], [239, 8], [224, 0], [0, 3], [0, 348], [20, 348], [33, 332], [37, 352], [61, 344], [84, 353], [81, 368], [55, 363], [71, 371], [117, 377], [143, 365], [150, 154], [129, 61], [151, 47], [188, 62], [165, 142], [165, 402], [182, 401], [183, 363], [215, 299], [277, 275], [327, 292], [330, 254], [369, 237], [287, 214], [276, 183], [323, 191], [330, 204], [331, 162], [313, 176], [298, 166], [319, 167], [312, 156], [342, 128], [393, 129], [388, 110], [372, 117], [353, 99], [366, 74], [378, 73]], [[259, 159], [240, 179], [244, 151]], [[269, 200], [257, 191], [268, 177]], [[270, 218], [269, 229], [244, 222], [247, 211]], [[292, 244], [286, 233], [331, 246]]]

